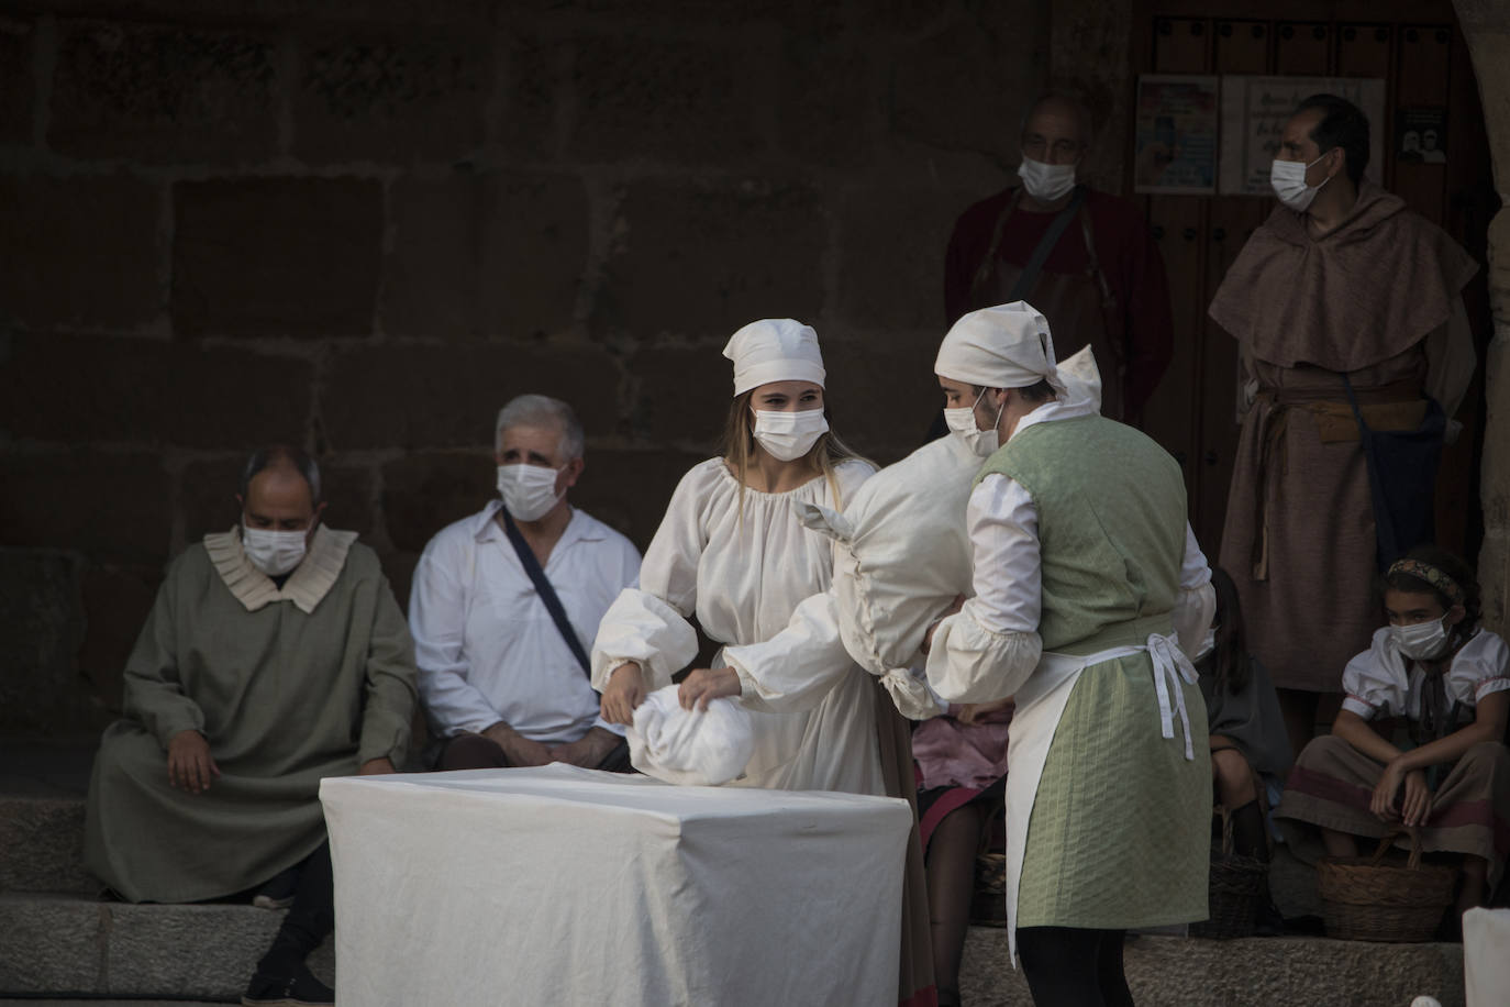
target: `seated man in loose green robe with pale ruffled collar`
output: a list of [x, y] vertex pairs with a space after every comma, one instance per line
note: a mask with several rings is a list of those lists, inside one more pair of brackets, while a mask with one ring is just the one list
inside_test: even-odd
[[237, 500], [237, 527], [174, 560], [131, 651], [125, 717], [89, 782], [85, 864], [130, 901], [282, 877], [293, 903], [242, 1002], [334, 1002], [305, 966], [334, 925], [320, 779], [402, 761], [414, 645], [378, 556], [320, 524], [304, 451], [255, 451]]

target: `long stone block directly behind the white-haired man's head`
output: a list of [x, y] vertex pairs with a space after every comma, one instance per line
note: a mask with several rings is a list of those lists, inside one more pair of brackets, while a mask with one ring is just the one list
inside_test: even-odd
[[491, 451], [498, 409], [524, 393], [569, 402], [587, 436], [618, 424], [619, 371], [609, 353], [538, 343], [355, 350], [332, 361], [320, 414], [337, 451]]

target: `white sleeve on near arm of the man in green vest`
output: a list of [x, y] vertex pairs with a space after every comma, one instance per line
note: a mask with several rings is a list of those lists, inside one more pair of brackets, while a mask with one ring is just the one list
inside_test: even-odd
[[935, 630], [929, 685], [948, 702], [992, 702], [1016, 693], [1043, 654], [1037, 507], [992, 474], [971, 492], [965, 519], [975, 596]]

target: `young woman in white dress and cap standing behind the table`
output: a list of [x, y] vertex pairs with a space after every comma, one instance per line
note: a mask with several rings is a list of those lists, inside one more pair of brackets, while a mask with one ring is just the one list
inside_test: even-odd
[[[639, 587], [609, 608], [592, 652], [602, 716], [628, 725], [645, 696], [698, 654], [693, 619], [720, 645], [760, 643], [827, 589], [832, 544], [805, 528], [796, 501], [843, 509], [874, 468], [829, 430], [817, 334], [791, 319], [753, 322], [729, 340], [734, 402], [725, 451], [689, 471], [645, 553]], [[772, 713], [758, 681], [702, 669], [687, 681], [741, 694], [755, 753], [735, 787], [882, 794], [870, 676], [849, 660], [811, 681], [815, 705]], [[744, 672], [747, 675], [747, 672]], [[740, 688], [735, 690], [734, 685]], [[788, 694], [788, 699], [796, 701]]]

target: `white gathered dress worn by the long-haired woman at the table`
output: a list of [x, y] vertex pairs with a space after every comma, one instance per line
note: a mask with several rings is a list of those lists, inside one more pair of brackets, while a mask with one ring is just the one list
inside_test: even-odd
[[[785, 630], [834, 572], [830, 539], [805, 528], [791, 504], [840, 510], [873, 473], [864, 462], [838, 465], [837, 500], [823, 476], [767, 494], [741, 486], [720, 457], [693, 467], [645, 553], [640, 586], [625, 589], [598, 628], [593, 685], [604, 688], [625, 661], [643, 669], [648, 690], [670, 684], [698, 654], [692, 616], [723, 645], [761, 643]], [[853, 672], [806, 711], [766, 713], [770, 707], [749, 696], [746, 705], [758, 711], [755, 756], [734, 785], [883, 793], [873, 690], [858, 666]], [[741, 684], [749, 691], [749, 679]]]

